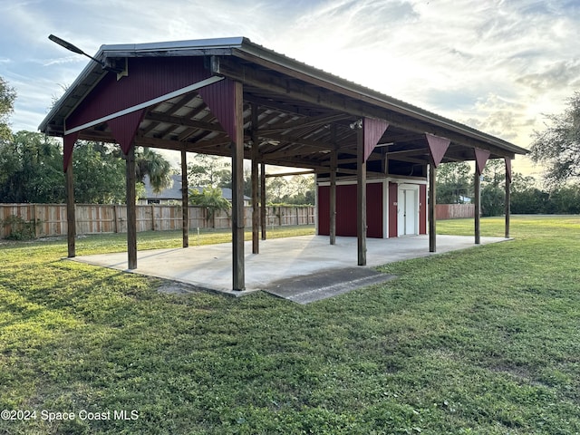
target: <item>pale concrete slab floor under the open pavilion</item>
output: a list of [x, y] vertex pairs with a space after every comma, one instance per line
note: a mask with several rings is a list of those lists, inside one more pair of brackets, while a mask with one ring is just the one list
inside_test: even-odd
[[[507, 240], [481, 237], [481, 245]], [[476, 247], [474, 237], [437, 236], [437, 253]], [[230, 295], [266, 290], [284, 279], [313, 275], [332, 269], [356, 267], [356, 237], [336, 237], [331, 246], [327, 236], [301, 236], [260, 241], [260, 254], [252, 254], [245, 244], [246, 290], [232, 291], [231, 244], [138, 251], [137, 269], [128, 271], [157, 276]], [[367, 239], [367, 266], [434, 255], [428, 236]], [[127, 253], [77, 256], [75, 261], [95, 266], [127, 270]]]

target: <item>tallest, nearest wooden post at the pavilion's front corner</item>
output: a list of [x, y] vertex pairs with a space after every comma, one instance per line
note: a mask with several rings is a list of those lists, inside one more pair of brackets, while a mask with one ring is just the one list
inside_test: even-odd
[[244, 290], [244, 89], [234, 82], [236, 137], [232, 143], [232, 258], [233, 289]]

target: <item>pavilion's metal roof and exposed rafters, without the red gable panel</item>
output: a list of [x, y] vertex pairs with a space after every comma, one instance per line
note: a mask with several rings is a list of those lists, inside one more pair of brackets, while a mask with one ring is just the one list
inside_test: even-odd
[[[424, 133], [451, 140], [443, 161], [474, 160], [474, 148], [489, 150], [490, 158], [527, 153], [506, 140], [275, 53], [244, 37], [102, 45], [94, 57], [106, 64], [138, 58], [163, 62], [202, 57], [211, 73], [243, 82], [245, 140], [251, 141], [254, 106], [258, 108], [260, 156], [270, 164], [324, 172], [330, 166], [329, 153], [338, 150], [339, 167], [343, 173], [353, 173], [356, 133], [350, 125], [361, 117], [390, 124], [371, 160], [384, 160], [386, 156], [401, 164], [424, 165], [429, 160]], [[107, 73], [100, 64], [89, 63], [39, 129], [63, 136], [64, 120]], [[230, 153], [230, 138], [196, 91], [155, 102], [146, 111], [139, 131], [137, 145]], [[106, 122], [82, 131], [80, 139], [113, 141]], [[249, 151], [246, 157], [250, 157]]]

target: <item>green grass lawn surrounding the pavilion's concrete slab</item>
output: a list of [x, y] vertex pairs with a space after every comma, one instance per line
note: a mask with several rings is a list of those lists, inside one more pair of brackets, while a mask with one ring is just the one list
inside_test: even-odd
[[[481, 228], [503, 236], [503, 219]], [[64, 240], [3, 243], [0, 411], [35, 414], [0, 419], [0, 434], [578, 433], [580, 218], [513, 217], [511, 233], [308, 305], [164, 295], [159, 280], [63, 260]], [[180, 234], [139, 243], [179, 247]], [[77, 242], [78, 255], [120, 249], [122, 236]]]

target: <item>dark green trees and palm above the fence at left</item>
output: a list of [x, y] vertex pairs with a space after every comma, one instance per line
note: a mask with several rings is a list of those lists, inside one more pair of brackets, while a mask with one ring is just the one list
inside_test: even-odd
[[[154, 189], [169, 186], [170, 165], [150, 149], [135, 152], [138, 195], [149, 176]], [[73, 152], [74, 198], [83, 204], [125, 202], [125, 163], [119, 147], [80, 140]], [[18, 131], [0, 139], [0, 202], [63, 203], [66, 201], [63, 147], [33, 131]]]

